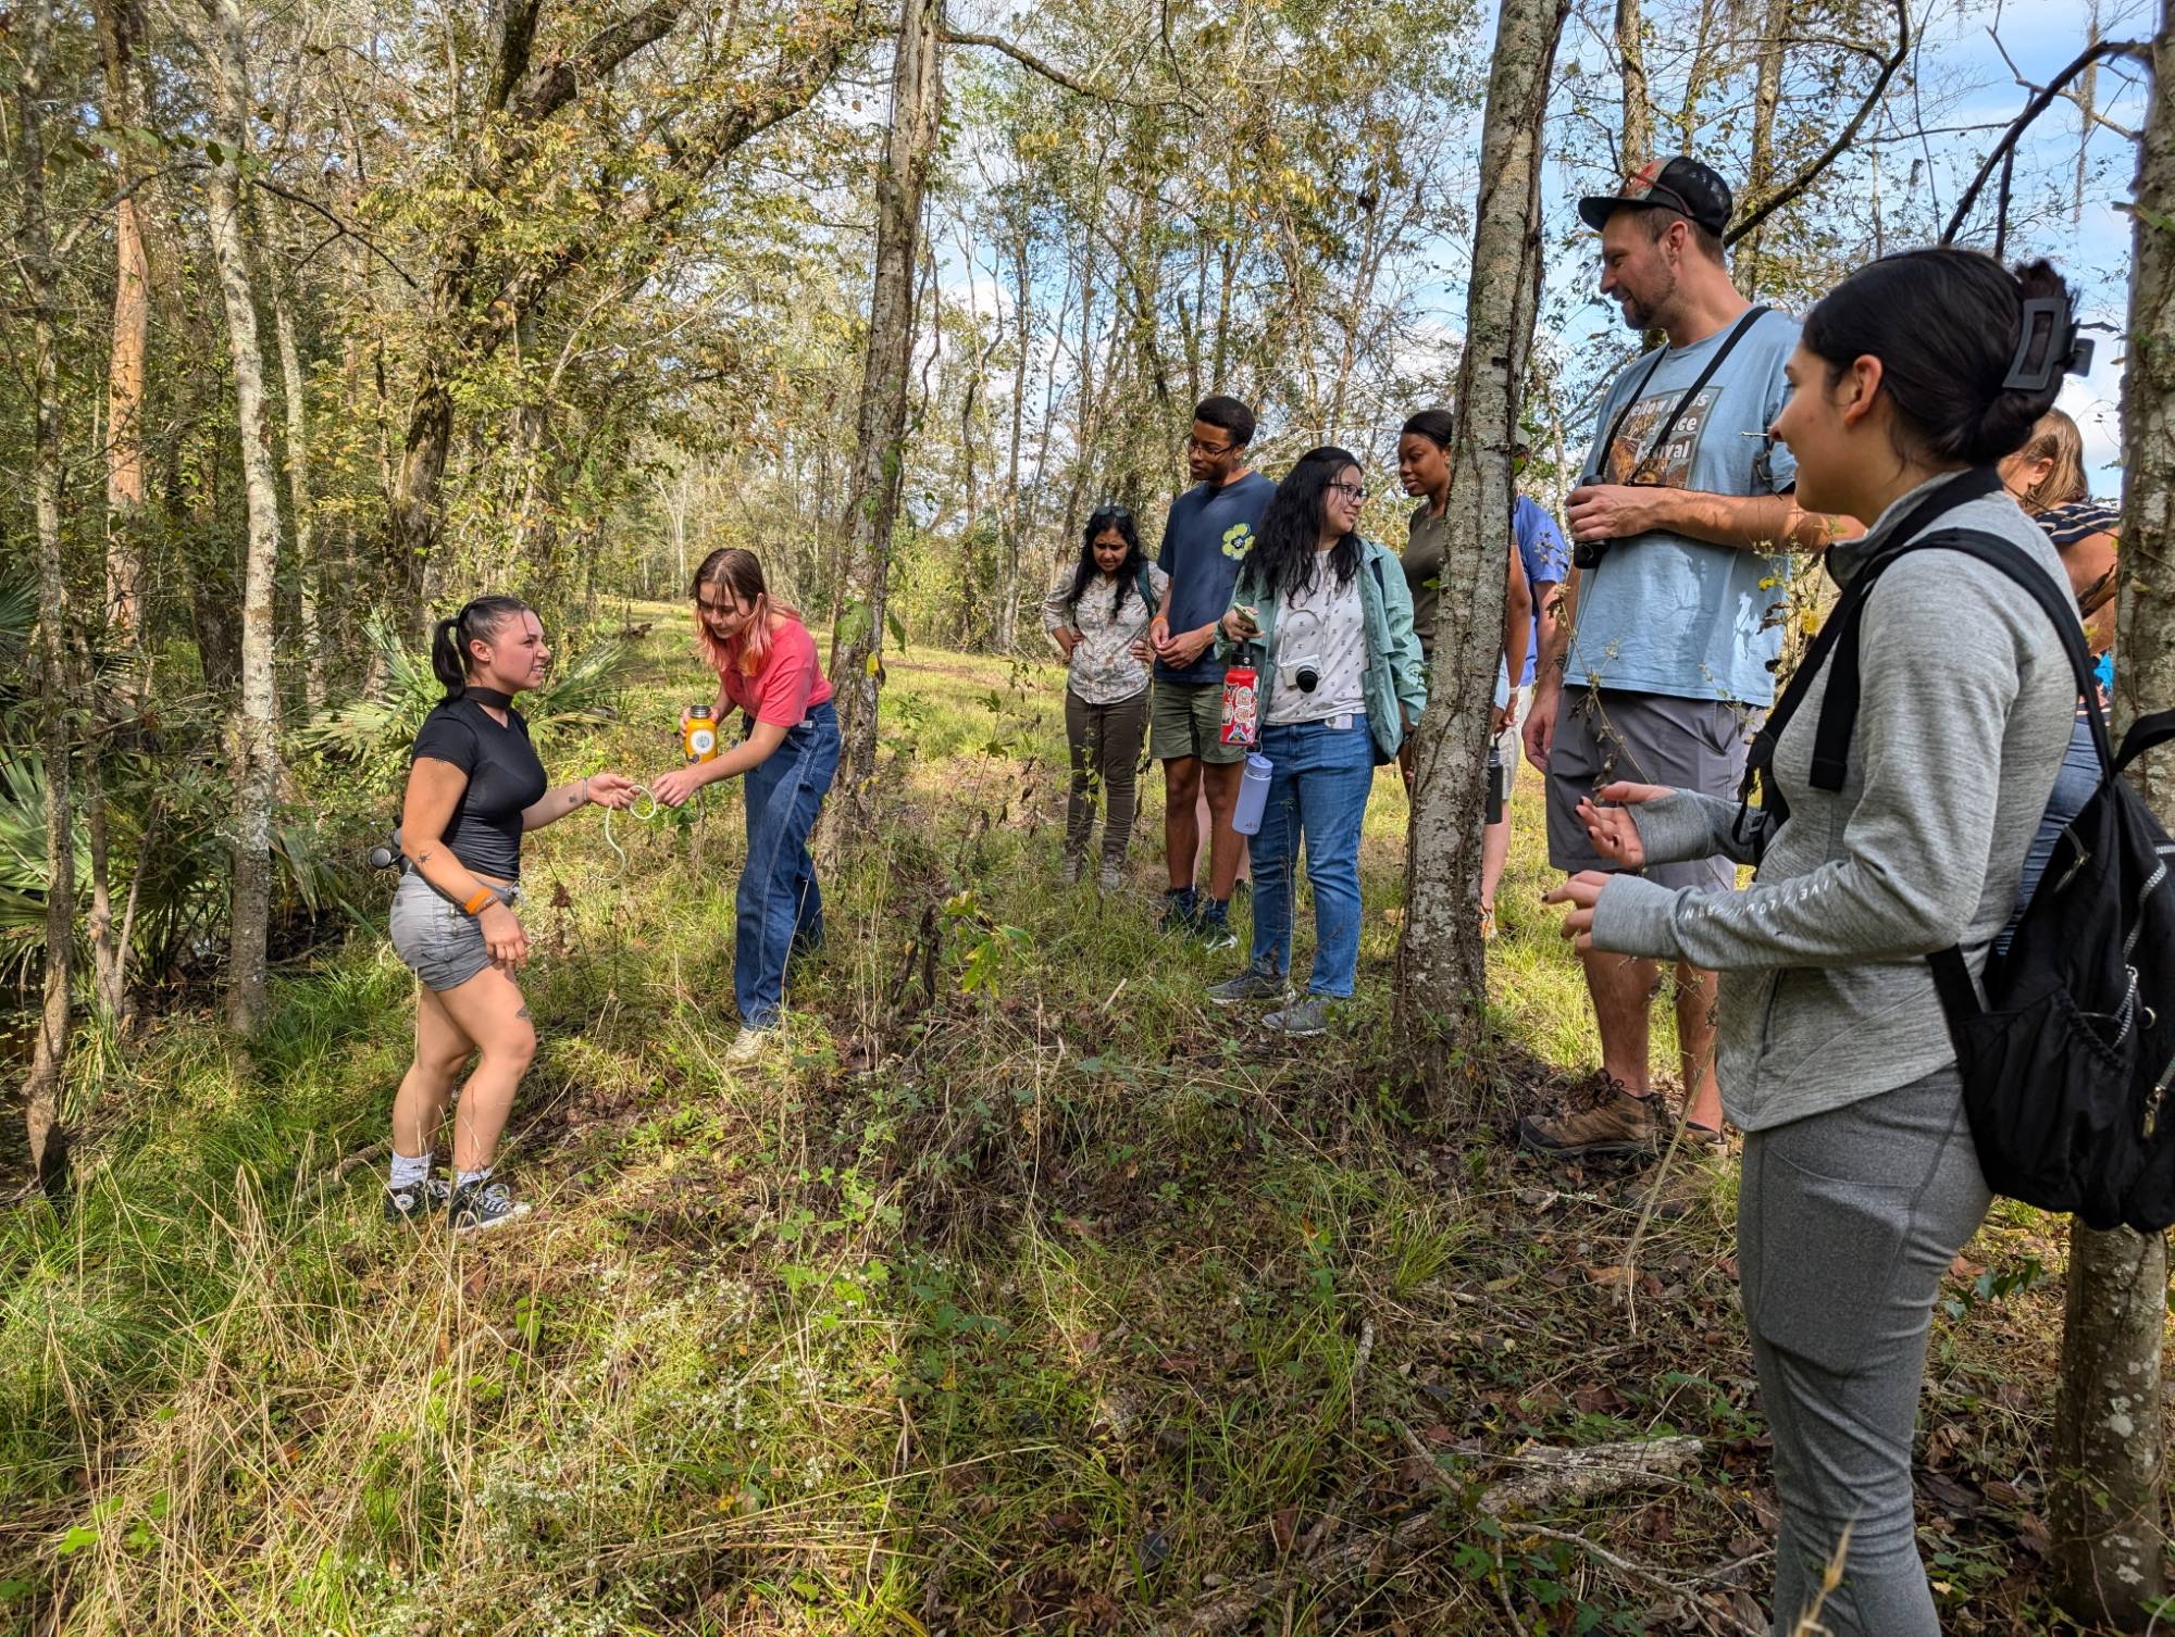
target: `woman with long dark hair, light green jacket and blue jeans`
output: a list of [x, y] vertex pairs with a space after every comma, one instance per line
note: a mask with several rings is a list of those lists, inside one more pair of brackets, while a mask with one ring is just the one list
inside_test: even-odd
[[1283, 1000], [1292, 972], [1298, 848], [1314, 887], [1307, 994], [1262, 1022], [1320, 1035], [1359, 970], [1359, 828], [1375, 767], [1394, 761], [1427, 709], [1412, 593], [1396, 559], [1359, 537], [1359, 459], [1318, 448], [1277, 485], [1240, 567], [1222, 641], [1259, 643], [1268, 807], [1253, 839], [1253, 959], [1209, 989], [1238, 1007]]

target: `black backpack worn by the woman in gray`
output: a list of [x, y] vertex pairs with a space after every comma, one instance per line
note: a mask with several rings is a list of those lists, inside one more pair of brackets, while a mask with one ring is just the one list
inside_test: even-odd
[[2099, 789], [2058, 837], [2010, 928], [2008, 952], [1988, 954], [1981, 980], [1973, 983], [1960, 948], [1938, 950], [1927, 963], [1988, 1187], [2047, 1211], [2073, 1211], [2092, 1228], [2160, 1233], [2175, 1224], [2175, 1109], [2164, 1107], [2175, 1080], [2175, 841], [2121, 772], [2175, 739], [2175, 711], [2134, 722], [2116, 752], [2066, 589], [1997, 535], [1947, 528], [1914, 539], [1940, 513], [1997, 487], [1992, 470], [1944, 483], [1897, 528], [1903, 543], [1857, 572], [1753, 739], [1747, 791], [1757, 780], [1775, 822], [1788, 815], [1766, 770], [1823, 661], [1831, 672], [1810, 783], [1842, 789], [1857, 722], [1857, 622], [1881, 572], [1905, 552], [1960, 552], [2038, 600], [2062, 635], [2090, 713]]

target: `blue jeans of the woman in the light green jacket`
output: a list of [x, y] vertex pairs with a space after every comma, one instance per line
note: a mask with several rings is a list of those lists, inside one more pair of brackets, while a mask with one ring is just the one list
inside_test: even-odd
[[1262, 728], [1270, 761], [1268, 807], [1253, 837], [1253, 963], [1292, 970], [1298, 844], [1314, 887], [1314, 978], [1307, 994], [1346, 998], [1359, 970], [1359, 824], [1375, 789], [1366, 713], [1348, 728], [1294, 722]]

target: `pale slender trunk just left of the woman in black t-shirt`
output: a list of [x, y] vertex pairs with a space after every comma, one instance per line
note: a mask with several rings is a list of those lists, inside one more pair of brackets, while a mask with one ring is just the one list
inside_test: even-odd
[[250, 78], [237, 0], [204, 0], [204, 54], [211, 59], [213, 130], [222, 146], [209, 172], [211, 254], [226, 307], [226, 348], [235, 367], [235, 417], [241, 428], [241, 487], [248, 554], [241, 578], [241, 687], [228, 715], [228, 765], [235, 780], [235, 889], [226, 967], [226, 1022], [254, 1035], [265, 1011], [265, 930], [272, 915], [272, 796], [278, 785], [278, 691], [272, 672], [272, 587], [278, 576], [278, 474], [265, 426], [263, 346], [257, 337], [257, 276], [241, 196], [248, 152]]

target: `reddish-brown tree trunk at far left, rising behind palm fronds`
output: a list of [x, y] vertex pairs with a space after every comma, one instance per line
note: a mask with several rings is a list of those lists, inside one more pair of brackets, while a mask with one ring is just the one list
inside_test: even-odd
[[98, 4], [104, 59], [104, 124], [117, 143], [122, 198], [113, 204], [113, 343], [107, 354], [107, 617], [135, 637], [144, 604], [144, 363], [150, 354], [150, 250], [144, 237], [148, 200], [137, 191], [144, 167], [133, 163], [144, 128], [141, 0]]

